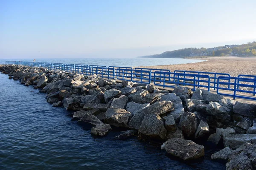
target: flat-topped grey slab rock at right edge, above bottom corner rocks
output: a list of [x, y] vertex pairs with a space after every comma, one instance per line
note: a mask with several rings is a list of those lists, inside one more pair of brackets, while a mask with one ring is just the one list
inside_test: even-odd
[[224, 146], [230, 147], [230, 149], [237, 149], [246, 142], [256, 144], [256, 135], [255, 134], [228, 134], [223, 136]]

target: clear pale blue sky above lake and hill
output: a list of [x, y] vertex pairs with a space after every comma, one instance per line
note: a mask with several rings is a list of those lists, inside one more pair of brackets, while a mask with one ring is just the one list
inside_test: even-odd
[[137, 57], [256, 41], [256, 0], [0, 0], [0, 58]]

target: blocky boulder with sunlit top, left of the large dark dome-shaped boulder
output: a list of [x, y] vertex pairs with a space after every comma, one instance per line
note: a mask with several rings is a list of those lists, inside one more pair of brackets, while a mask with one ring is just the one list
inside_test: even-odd
[[129, 119], [131, 119], [131, 116], [131, 113], [125, 109], [108, 108], [105, 113], [104, 121], [116, 127], [128, 127], [128, 122]]

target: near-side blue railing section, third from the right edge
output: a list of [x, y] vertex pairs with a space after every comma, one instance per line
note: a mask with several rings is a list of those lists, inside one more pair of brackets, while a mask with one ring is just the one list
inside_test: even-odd
[[146, 70], [133, 70], [133, 69], [116, 69], [116, 79], [119, 80], [131, 80], [133, 82], [140, 82], [150, 84], [151, 74], [150, 71]]

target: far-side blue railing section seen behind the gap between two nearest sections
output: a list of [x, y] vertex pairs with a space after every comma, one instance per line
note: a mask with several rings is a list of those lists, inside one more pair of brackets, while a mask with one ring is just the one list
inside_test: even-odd
[[[227, 76], [230, 77], [230, 74], [227, 73], [212, 73], [212, 72], [201, 72], [201, 71], [183, 71], [183, 70], [175, 70], [174, 73], [183, 73], [183, 74], [198, 74], [198, 75], [209, 75], [211, 82], [210, 82], [210, 88], [213, 88], [215, 90], [217, 86], [217, 79], [219, 76]], [[213, 85], [211, 85], [213, 84]]]

